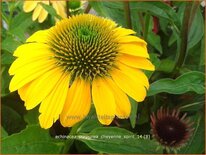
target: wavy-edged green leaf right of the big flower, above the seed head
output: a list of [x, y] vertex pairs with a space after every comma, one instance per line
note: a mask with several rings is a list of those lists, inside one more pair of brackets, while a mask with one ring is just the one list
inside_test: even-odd
[[191, 71], [179, 76], [177, 79], [160, 79], [150, 85], [148, 96], [167, 92], [170, 94], [183, 94], [194, 91], [197, 94], [204, 94], [204, 79], [202, 72]]

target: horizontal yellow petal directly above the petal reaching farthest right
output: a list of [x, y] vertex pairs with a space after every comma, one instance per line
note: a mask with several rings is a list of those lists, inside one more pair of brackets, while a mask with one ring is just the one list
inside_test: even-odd
[[129, 54], [132, 56], [149, 58], [149, 54], [145, 45], [120, 44], [118, 51], [120, 53]]

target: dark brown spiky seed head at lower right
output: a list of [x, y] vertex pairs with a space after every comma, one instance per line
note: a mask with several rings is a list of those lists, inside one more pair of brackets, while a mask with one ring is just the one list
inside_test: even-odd
[[163, 109], [151, 115], [153, 137], [165, 148], [176, 149], [183, 146], [192, 135], [192, 124], [186, 114], [180, 117], [180, 111]]

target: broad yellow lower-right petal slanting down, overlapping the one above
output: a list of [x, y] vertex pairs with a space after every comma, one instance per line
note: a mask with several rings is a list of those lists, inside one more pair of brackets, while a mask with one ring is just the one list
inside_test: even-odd
[[135, 80], [118, 69], [114, 69], [111, 75], [117, 86], [134, 100], [141, 102], [145, 99], [146, 89], [139, 85], [138, 79]]

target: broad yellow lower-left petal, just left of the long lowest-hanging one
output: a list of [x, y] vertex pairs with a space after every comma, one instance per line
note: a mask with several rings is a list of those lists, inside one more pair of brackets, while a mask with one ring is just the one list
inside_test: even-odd
[[24, 99], [26, 109], [30, 110], [37, 106], [53, 90], [62, 74], [61, 69], [55, 68], [32, 81]]

